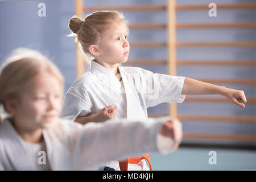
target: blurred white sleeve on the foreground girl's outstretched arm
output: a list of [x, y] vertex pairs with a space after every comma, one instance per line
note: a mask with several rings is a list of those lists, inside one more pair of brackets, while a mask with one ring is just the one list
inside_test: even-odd
[[83, 125], [74, 133], [76, 137], [71, 137], [73, 168], [92, 169], [110, 160], [122, 160], [158, 151], [156, 136], [163, 122], [168, 119], [170, 118], [150, 118], [147, 121], [120, 119]]

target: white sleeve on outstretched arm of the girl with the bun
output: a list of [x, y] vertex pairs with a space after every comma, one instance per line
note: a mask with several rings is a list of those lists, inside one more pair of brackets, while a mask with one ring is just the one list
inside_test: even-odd
[[142, 80], [146, 81], [144, 96], [147, 107], [164, 102], [181, 103], [185, 100], [185, 95], [181, 94], [185, 77], [152, 73], [144, 69], [142, 73]]

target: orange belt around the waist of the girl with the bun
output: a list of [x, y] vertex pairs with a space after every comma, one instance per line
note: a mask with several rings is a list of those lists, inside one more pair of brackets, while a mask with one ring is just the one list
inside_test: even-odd
[[119, 161], [119, 167], [121, 171], [128, 171], [128, 163], [130, 164], [138, 164], [142, 159], [146, 159], [149, 166], [150, 171], [152, 171], [152, 166], [150, 162], [149, 153], [143, 154], [142, 156], [136, 157], [136, 158], [129, 158], [127, 160]]

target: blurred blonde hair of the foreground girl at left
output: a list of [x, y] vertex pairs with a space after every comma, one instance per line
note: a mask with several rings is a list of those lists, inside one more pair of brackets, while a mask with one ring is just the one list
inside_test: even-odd
[[46, 56], [27, 48], [18, 48], [13, 51], [2, 65], [0, 72], [0, 104], [3, 114], [10, 115], [6, 109], [5, 101], [9, 98], [18, 99], [24, 85], [42, 72], [48, 72], [55, 76], [63, 86], [63, 76], [56, 65], [49, 61]]

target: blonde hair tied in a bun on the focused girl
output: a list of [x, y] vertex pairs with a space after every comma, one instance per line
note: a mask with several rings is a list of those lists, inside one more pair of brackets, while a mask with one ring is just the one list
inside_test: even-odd
[[102, 32], [106, 31], [109, 24], [117, 21], [122, 21], [126, 24], [127, 31], [129, 31], [127, 22], [122, 13], [118, 11], [96, 11], [82, 20], [78, 16], [72, 16], [69, 19], [69, 28], [73, 34], [68, 36], [76, 36], [76, 43], [79, 44], [81, 51], [84, 53], [85, 60], [88, 64], [95, 57], [90, 53], [90, 45], [100, 43]]

